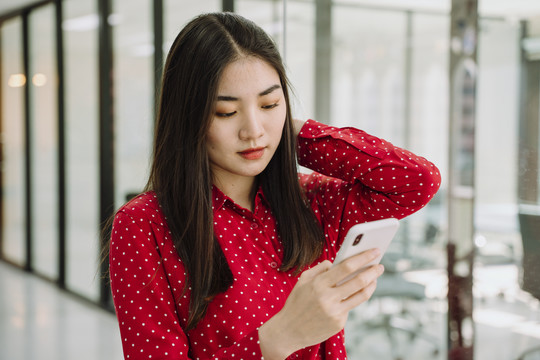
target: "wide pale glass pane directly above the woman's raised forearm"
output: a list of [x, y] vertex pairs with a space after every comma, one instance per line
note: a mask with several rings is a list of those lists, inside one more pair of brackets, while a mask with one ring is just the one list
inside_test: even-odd
[[405, 21], [402, 12], [333, 8], [332, 122], [402, 146]]

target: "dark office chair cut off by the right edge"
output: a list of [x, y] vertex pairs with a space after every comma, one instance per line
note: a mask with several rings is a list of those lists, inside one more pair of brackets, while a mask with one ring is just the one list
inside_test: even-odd
[[[523, 258], [520, 271], [521, 288], [540, 301], [540, 212], [519, 213]], [[527, 356], [540, 354], [540, 346], [521, 353], [517, 360], [525, 360]]]

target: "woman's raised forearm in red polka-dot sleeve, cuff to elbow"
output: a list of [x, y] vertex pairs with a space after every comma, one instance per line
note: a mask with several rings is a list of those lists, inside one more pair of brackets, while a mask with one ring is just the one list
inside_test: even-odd
[[352, 127], [308, 120], [298, 136], [298, 160], [318, 173], [360, 184], [410, 212], [440, 186], [439, 170], [425, 158]]

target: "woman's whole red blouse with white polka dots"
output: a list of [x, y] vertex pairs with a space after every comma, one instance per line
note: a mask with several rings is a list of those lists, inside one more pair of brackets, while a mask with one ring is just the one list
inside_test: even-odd
[[[440, 185], [439, 171], [426, 159], [361, 130], [313, 120], [298, 136], [298, 159], [314, 170], [300, 175], [300, 183], [326, 236], [313, 265], [334, 259], [352, 225], [410, 215]], [[234, 282], [188, 332], [186, 273], [156, 196], [141, 194], [118, 211], [110, 276], [126, 359], [262, 358], [258, 328], [282, 308], [298, 276], [278, 270], [282, 245], [260, 189], [251, 212], [214, 187], [213, 211], [214, 232]], [[346, 356], [342, 330], [290, 358]]]

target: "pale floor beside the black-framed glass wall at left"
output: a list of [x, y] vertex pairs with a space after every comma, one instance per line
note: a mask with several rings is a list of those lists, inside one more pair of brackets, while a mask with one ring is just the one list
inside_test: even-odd
[[122, 359], [113, 314], [0, 261], [0, 359]]

